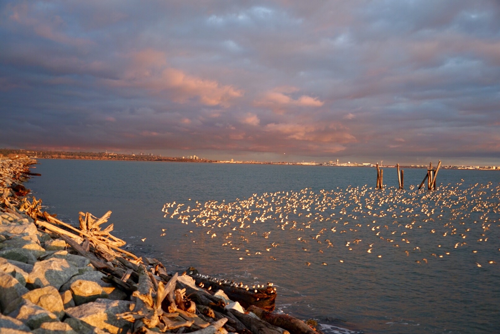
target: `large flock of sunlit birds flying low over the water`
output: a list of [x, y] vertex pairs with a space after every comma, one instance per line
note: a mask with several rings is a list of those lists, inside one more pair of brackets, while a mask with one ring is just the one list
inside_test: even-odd
[[[495, 264], [500, 255], [500, 184], [491, 182], [435, 190], [304, 188], [228, 202], [189, 198], [185, 203], [167, 202], [161, 211], [170, 222], [193, 226], [184, 234], [192, 242], [203, 238], [227, 247], [239, 260], [286, 260], [293, 254], [306, 259], [306, 266], [328, 265], [326, 261], [348, 261], [352, 257], [346, 252], [352, 251], [373, 258], [401, 256], [424, 265], [460, 250], [474, 256], [484, 252], [486, 257], [470, 257], [481, 258], [482, 263], [471, 262], [481, 267]], [[168, 226], [160, 235], [166, 233]]]

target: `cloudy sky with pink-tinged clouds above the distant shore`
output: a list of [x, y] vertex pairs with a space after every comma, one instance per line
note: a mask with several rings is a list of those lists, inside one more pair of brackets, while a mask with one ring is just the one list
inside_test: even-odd
[[500, 1], [0, 1], [0, 147], [500, 165]]

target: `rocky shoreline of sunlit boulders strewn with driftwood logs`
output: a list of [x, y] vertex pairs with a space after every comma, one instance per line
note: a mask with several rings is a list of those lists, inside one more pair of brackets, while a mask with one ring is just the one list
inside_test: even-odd
[[111, 212], [80, 212], [77, 229], [42, 211], [22, 185], [37, 175], [28, 169], [34, 163], [0, 161], [0, 334], [320, 333], [267, 311], [271, 286], [238, 289], [194, 268], [168, 273], [158, 260], [121, 249], [112, 224], [100, 227]]

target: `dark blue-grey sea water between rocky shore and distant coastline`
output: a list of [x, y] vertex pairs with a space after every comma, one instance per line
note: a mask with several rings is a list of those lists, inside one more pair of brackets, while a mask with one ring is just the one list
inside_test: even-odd
[[[436, 191], [416, 191], [409, 186], [426, 171], [405, 169], [399, 191], [395, 168], [384, 168], [387, 188], [376, 190], [376, 172], [366, 167], [39, 162], [33, 171], [42, 176], [26, 186], [60, 219], [77, 224], [79, 211], [111, 210], [113, 234], [135, 253], [171, 271], [195, 266], [244, 284], [272, 281], [278, 311], [315, 318], [325, 332], [500, 331], [497, 171], [441, 169]], [[221, 208], [219, 222], [230, 224], [197, 226], [194, 211], [184, 213], [187, 224], [161, 211], [173, 201], [184, 210], [246, 198], [271, 204], [269, 218], [252, 224], [264, 209], [252, 206], [259, 212], [240, 225], [243, 214], [234, 222], [237, 210]], [[275, 212], [298, 199], [309, 200], [309, 211], [302, 203], [300, 216]]]

